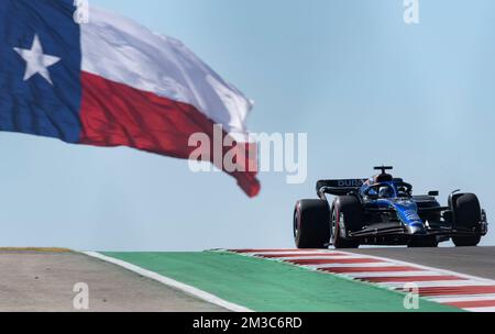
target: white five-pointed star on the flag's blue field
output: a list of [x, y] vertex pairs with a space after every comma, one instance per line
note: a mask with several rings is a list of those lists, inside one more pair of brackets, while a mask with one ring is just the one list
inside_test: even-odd
[[61, 58], [55, 56], [45, 55], [43, 46], [40, 42], [37, 34], [34, 35], [33, 45], [31, 49], [13, 48], [26, 63], [24, 81], [29, 80], [32, 76], [40, 74], [50, 85], [53, 86], [52, 78], [50, 77], [48, 67], [61, 62]]

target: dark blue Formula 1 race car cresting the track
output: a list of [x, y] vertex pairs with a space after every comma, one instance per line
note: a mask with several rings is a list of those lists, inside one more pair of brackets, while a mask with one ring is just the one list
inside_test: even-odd
[[[438, 191], [414, 196], [413, 186], [381, 170], [370, 179], [321, 180], [320, 199], [297, 202], [294, 236], [298, 248], [356, 248], [360, 245], [476, 246], [486, 235], [486, 213], [473, 193], [452, 192], [448, 207]], [[333, 196], [329, 202], [327, 196]]]

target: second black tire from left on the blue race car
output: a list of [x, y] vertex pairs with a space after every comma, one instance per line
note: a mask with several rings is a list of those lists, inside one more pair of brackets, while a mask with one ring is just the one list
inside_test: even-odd
[[330, 242], [337, 249], [359, 248], [360, 242], [349, 240], [349, 232], [360, 231], [364, 222], [364, 211], [354, 196], [341, 196], [336, 199], [331, 216]]

